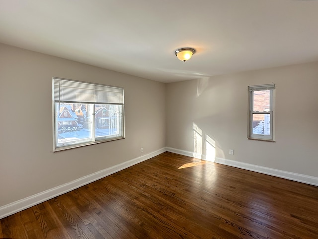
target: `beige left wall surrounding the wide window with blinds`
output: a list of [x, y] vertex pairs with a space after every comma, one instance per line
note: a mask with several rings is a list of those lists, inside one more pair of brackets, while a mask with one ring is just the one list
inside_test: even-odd
[[[125, 88], [125, 139], [52, 152], [52, 77]], [[165, 84], [0, 44], [0, 206], [165, 147]]]

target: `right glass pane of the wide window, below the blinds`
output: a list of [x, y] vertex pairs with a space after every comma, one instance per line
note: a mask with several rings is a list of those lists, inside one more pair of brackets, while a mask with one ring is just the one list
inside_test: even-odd
[[95, 104], [96, 140], [123, 136], [122, 105]]

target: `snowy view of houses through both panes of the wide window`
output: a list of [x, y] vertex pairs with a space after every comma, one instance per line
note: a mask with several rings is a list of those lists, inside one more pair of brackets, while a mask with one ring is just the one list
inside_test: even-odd
[[[118, 136], [121, 132], [120, 105], [55, 103], [57, 146]], [[93, 128], [95, 120], [95, 130]]]

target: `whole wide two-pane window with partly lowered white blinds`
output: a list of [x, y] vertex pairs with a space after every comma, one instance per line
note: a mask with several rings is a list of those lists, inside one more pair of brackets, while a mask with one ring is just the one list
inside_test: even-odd
[[53, 151], [124, 138], [124, 89], [53, 78]]

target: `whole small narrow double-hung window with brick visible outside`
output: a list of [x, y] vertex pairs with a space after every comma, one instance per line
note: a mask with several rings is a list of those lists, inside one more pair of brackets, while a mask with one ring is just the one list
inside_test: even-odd
[[249, 86], [248, 138], [274, 141], [275, 84]]

